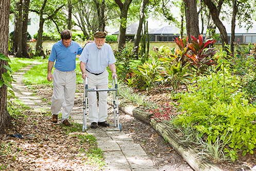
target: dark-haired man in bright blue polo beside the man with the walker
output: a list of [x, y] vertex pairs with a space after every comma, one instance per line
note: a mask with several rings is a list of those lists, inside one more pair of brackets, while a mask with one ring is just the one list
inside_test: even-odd
[[[75, 101], [76, 92], [76, 56], [81, 54], [83, 48], [71, 40], [70, 30], [61, 32], [61, 41], [52, 46], [48, 61], [47, 80], [53, 80], [53, 95], [51, 101], [51, 113], [53, 123], [58, 122], [58, 115], [62, 106], [62, 123], [69, 126], [70, 115]], [[51, 70], [54, 64], [54, 71]]]

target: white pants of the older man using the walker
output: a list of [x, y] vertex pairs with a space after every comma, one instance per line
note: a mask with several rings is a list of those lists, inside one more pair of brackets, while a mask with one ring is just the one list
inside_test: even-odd
[[[88, 89], [108, 89], [108, 72], [105, 70], [100, 75], [88, 74]], [[88, 92], [88, 119], [92, 122], [104, 122], [107, 118], [107, 91], [99, 92], [99, 112], [97, 106], [96, 91]]]

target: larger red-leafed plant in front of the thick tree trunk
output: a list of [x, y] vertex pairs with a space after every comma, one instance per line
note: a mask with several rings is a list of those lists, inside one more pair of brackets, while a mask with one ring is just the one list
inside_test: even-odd
[[196, 70], [196, 75], [204, 72], [206, 67], [209, 65], [215, 64], [211, 61], [209, 56], [216, 53], [215, 48], [208, 48], [209, 45], [215, 43], [215, 40], [208, 40], [203, 42], [203, 35], [199, 35], [198, 39], [191, 35], [192, 44], [188, 44], [189, 49], [192, 51], [192, 54], [186, 54], [190, 59], [191, 67]]

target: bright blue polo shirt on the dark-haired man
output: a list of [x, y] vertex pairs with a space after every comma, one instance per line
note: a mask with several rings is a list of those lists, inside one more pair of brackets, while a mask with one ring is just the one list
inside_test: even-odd
[[62, 41], [57, 42], [52, 46], [49, 61], [56, 61], [54, 68], [62, 72], [72, 71], [76, 69], [76, 56], [81, 54], [83, 48], [72, 41], [68, 48], [62, 44]]

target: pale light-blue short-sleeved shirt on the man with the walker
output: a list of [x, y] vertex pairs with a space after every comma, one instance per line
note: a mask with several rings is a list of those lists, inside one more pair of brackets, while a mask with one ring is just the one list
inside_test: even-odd
[[103, 47], [98, 49], [95, 42], [85, 46], [79, 60], [86, 63], [86, 69], [92, 73], [104, 72], [108, 65], [116, 62], [110, 45], [104, 43]]

